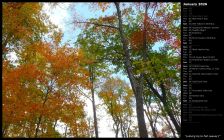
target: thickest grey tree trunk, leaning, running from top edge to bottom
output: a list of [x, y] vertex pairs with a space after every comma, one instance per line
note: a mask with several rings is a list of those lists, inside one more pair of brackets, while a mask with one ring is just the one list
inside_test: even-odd
[[128, 43], [127, 39], [124, 36], [124, 31], [122, 27], [122, 17], [121, 17], [121, 11], [119, 7], [119, 3], [115, 2], [115, 6], [117, 9], [117, 15], [118, 15], [118, 20], [119, 20], [119, 32], [120, 32], [120, 37], [121, 37], [121, 42], [123, 45], [123, 50], [125, 54], [125, 59], [124, 59], [124, 64], [125, 64], [125, 69], [128, 73], [128, 77], [131, 82], [131, 86], [133, 89], [133, 92], [135, 94], [135, 99], [136, 99], [136, 112], [137, 112], [137, 119], [138, 119], [138, 127], [139, 127], [139, 135], [142, 138], [147, 138], [148, 133], [146, 129], [146, 124], [145, 124], [145, 118], [144, 118], [144, 109], [143, 109], [143, 98], [142, 98], [142, 86], [141, 84], [137, 83], [137, 80], [134, 77], [133, 70], [132, 70], [132, 65], [130, 61], [130, 53], [128, 50]]

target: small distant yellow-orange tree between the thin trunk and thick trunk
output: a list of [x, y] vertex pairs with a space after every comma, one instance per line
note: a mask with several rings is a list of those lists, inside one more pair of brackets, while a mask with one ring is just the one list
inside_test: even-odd
[[102, 85], [99, 96], [114, 121], [115, 137], [118, 137], [119, 131], [122, 137], [130, 137], [133, 123], [133, 93], [129, 85], [119, 78], [108, 78]]

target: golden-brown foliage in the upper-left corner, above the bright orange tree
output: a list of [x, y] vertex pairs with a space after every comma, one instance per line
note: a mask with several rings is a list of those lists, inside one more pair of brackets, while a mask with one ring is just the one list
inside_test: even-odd
[[41, 13], [41, 3], [2, 4], [2, 50], [3, 58], [10, 51], [20, 52], [25, 46], [40, 41], [44, 34], [51, 32], [55, 26], [46, 14]]

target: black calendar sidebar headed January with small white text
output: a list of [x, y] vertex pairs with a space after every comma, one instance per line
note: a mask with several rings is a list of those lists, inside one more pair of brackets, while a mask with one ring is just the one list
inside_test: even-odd
[[182, 1], [182, 138], [224, 138], [224, 5]]

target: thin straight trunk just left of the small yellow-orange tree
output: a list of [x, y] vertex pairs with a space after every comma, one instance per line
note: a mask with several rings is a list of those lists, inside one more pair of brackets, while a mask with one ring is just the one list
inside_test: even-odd
[[93, 106], [93, 118], [94, 118], [94, 128], [95, 128], [95, 136], [98, 138], [98, 126], [97, 126], [97, 117], [96, 117], [96, 105], [95, 105], [95, 95], [94, 95], [94, 71], [93, 66], [89, 66], [90, 72], [90, 82], [91, 82], [91, 94], [92, 94], [92, 106]]

